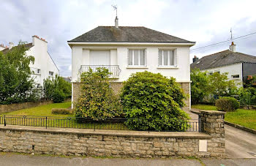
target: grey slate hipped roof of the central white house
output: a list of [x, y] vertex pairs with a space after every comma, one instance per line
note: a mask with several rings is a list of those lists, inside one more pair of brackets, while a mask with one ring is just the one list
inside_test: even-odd
[[[69, 42], [190, 42], [143, 26], [98, 26]], [[195, 42], [191, 42], [195, 43]]]

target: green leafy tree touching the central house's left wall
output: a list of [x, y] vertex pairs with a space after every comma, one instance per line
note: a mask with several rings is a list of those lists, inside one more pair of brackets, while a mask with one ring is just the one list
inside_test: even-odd
[[56, 75], [55, 78], [44, 80], [43, 91], [46, 99], [53, 99], [53, 102], [63, 102], [64, 99], [71, 97], [72, 86], [71, 83]]

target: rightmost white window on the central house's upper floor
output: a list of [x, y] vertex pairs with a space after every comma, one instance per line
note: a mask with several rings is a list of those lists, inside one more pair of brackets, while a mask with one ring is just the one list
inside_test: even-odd
[[174, 50], [159, 50], [158, 51], [158, 65], [177, 67], [177, 60]]

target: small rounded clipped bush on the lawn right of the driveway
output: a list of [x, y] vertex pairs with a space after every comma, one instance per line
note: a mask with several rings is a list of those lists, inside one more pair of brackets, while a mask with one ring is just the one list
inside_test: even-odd
[[240, 107], [240, 103], [233, 97], [222, 97], [215, 102], [217, 110], [225, 112], [235, 111]]

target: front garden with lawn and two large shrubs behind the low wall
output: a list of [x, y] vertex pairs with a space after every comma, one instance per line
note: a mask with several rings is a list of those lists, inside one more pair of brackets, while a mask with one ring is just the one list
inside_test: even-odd
[[98, 68], [81, 75], [83, 85], [74, 110], [69, 109], [70, 102], [43, 105], [6, 113], [0, 122], [5, 118], [9, 124], [41, 127], [198, 131], [198, 121], [189, 121], [189, 115], [181, 110], [186, 95], [174, 78], [137, 72], [116, 95], [109, 74], [108, 69]]

